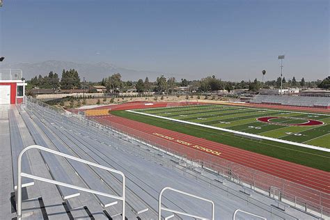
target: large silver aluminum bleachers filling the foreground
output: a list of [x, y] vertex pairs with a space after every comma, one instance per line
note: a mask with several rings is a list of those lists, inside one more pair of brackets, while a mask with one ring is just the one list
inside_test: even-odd
[[[15, 126], [1, 136], [3, 143], [10, 143], [6, 139], [16, 134], [22, 140], [13, 140], [10, 147], [17, 152], [26, 146], [38, 144], [70, 157], [123, 172], [126, 219], [158, 219], [159, 193], [164, 187], [172, 187], [213, 201], [214, 219], [232, 219], [237, 209], [243, 212], [237, 213], [236, 219], [256, 219], [253, 214], [267, 219], [316, 219], [313, 214], [301, 212], [290, 205], [286, 211], [277, 209], [274, 198], [252, 189], [251, 194], [244, 194], [244, 187], [237, 184], [238, 181], [207, 171], [201, 166], [194, 166], [198, 163], [189, 162], [172, 153], [161, 152], [109, 127], [91, 121], [86, 123], [40, 102], [25, 101], [17, 109], [0, 109], [1, 131], [7, 131], [4, 128], [9, 127], [9, 123]], [[9, 123], [5, 123], [5, 120]], [[8, 152], [6, 149], [3, 148]], [[9, 161], [10, 158], [6, 159]], [[121, 196], [123, 193], [120, 175], [91, 164], [79, 163], [37, 149], [26, 151], [22, 159], [26, 159], [22, 164], [24, 173], [104, 194]], [[10, 173], [13, 178], [13, 169], [13, 166], [10, 171], [0, 169], [0, 175], [9, 176]], [[1, 173], [5, 171], [6, 173]], [[14, 173], [16, 174], [17, 172]], [[23, 177], [22, 181], [24, 179], [30, 180]], [[0, 181], [2, 188], [5, 180]], [[13, 180], [8, 180], [7, 184], [15, 185]], [[122, 202], [116, 198], [40, 180], [34, 180], [33, 185], [26, 185], [23, 189], [23, 195], [26, 195], [22, 198], [22, 219], [122, 219]], [[3, 199], [0, 210], [8, 208], [8, 204], [10, 206], [9, 199], [13, 191], [13, 187], [1, 189], [1, 201], [6, 199]], [[17, 199], [14, 196], [11, 203], [13, 210], [6, 212], [8, 216], [5, 219], [16, 217], [15, 201]], [[212, 219], [210, 203], [175, 191], [165, 191], [161, 205], [164, 207], [162, 219], [191, 219], [184, 215], [187, 213], [195, 219]], [[171, 210], [178, 212], [173, 213]]]

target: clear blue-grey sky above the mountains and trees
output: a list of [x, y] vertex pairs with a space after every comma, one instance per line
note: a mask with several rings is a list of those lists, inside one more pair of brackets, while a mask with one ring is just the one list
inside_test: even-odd
[[329, 75], [328, 0], [3, 0], [7, 63], [107, 62], [168, 77]]

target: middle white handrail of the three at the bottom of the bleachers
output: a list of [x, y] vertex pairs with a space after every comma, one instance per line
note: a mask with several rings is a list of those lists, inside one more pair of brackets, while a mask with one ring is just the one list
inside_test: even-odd
[[214, 202], [213, 202], [213, 201], [211, 201], [211, 200], [209, 200], [209, 199], [207, 199], [207, 198], [203, 198], [203, 197], [200, 197], [200, 196], [196, 196], [196, 195], [194, 195], [194, 194], [189, 194], [189, 193], [187, 193], [187, 192], [185, 192], [185, 191], [181, 191], [181, 190], [178, 190], [178, 189], [173, 189], [173, 188], [171, 188], [171, 187], [164, 187], [164, 188], [162, 189], [162, 191], [160, 191], [160, 193], [159, 193], [159, 196], [158, 196], [158, 220], [162, 220], [162, 210], [164, 210], [164, 211], [168, 211], [168, 212], [173, 212], [173, 213], [176, 213], [176, 214], [182, 214], [182, 215], [184, 215], [184, 216], [192, 217], [192, 218], [195, 218], [195, 219], [207, 219], [207, 218], [205, 218], [205, 217], [199, 217], [199, 216], [197, 216], [197, 215], [189, 214], [189, 213], [187, 213], [187, 212], [180, 212], [180, 211], [178, 211], [178, 210], [172, 210], [172, 209], [168, 209], [168, 208], [166, 208], [166, 207], [162, 207], [162, 195], [163, 195], [164, 191], [166, 191], [166, 190], [176, 191], [176, 192], [178, 192], [179, 194], [183, 194], [183, 195], [191, 196], [191, 197], [193, 197], [193, 198], [198, 198], [198, 199], [200, 199], [200, 200], [207, 201], [207, 202], [211, 203], [211, 204], [212, 204], [212, 216], [211, 216], [211, 219], [214, 220]]

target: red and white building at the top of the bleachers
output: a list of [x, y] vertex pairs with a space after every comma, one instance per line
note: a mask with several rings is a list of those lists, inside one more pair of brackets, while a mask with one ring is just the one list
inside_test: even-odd
[[21, 103], [25, 86], [22, 70], [0, 70], [0, 104]]

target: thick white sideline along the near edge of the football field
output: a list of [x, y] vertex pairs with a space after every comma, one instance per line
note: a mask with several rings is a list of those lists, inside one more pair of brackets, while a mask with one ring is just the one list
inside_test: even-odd
[[328, 148], [320, 148], [320, 147], [311, 146], [311, 145], [308, 145], [308, 144], [305, 144], [305, 143], [296, 143], [296, 142], [293, 142], [293, 141], [274, 139], [274, 138], [271, 138], [269, 136], [261, 136], [261, 135], [258, 135], [258, 134], [249, 134], [249, 133], [246, 133], [246, 132], [238, 132], [238, 131], [234, 131], [234, 130], [231, 130], [231, 129], [221, 128], [221, 127], [214, 127], [214, 126], [210, 126], [210, 125], [203, 125], [203, 124], [199, 124], [199, 123], [191, 123], [189, 121], [178, 120], [178, 119], [173, 119], [173, 118], [166, 118], [166, 117], [163, 117], [163, 116], [155, 116], [155, 115], [152, 115], [152, 114], [149, 114], [149, 113], [143, 113], [143, 112], [138, 112], [138, 111], [132, 111], [132, 110], [126, 110], [126, 111], [129, 111], [129, 112], [132, 112], [132, 113], [138, 113], [138, 114], [141, 114], [141, 115], [144, 115], [144, 116], [151, 116], [151, 117], [155, 117], [155, 118], [173, 120], [173, 121], [176, 121], [176, 122], [179, 122], [179, 123], [185, 123], [185, 124], [189, 124], [189, 125], [196, 125], [196, 126], [199, 126], [199, 127], [207, 127], [207, 128], [211, 128], [211, 129], [217, 129], [217, 130], [220, 130], [220, 131], [223, 131], [223, 132], [229, 132], [229, 133], [239, 134], [239, 135], [243, 135], [243, 136], [251, 136], [251, 137], [254, 137], [254, 138], [257, 138], [257, 139], [264, 139], [264, 140], [268, 140], [268, 141], [276, 141], [276, 142], [279, 142], [279, 143], [288, 143], [288, 144], [291, 144], [291, 145], [294, 145], [294, 146], [300, 146], [300, 147], [303, 147], [303, 148], [311, 148], [311, 149], [315, 149], [315, 150], [322, 150], [322, 151], [325, 151], [325, 152], [330, 152], [330, 149], [328, 149]]

